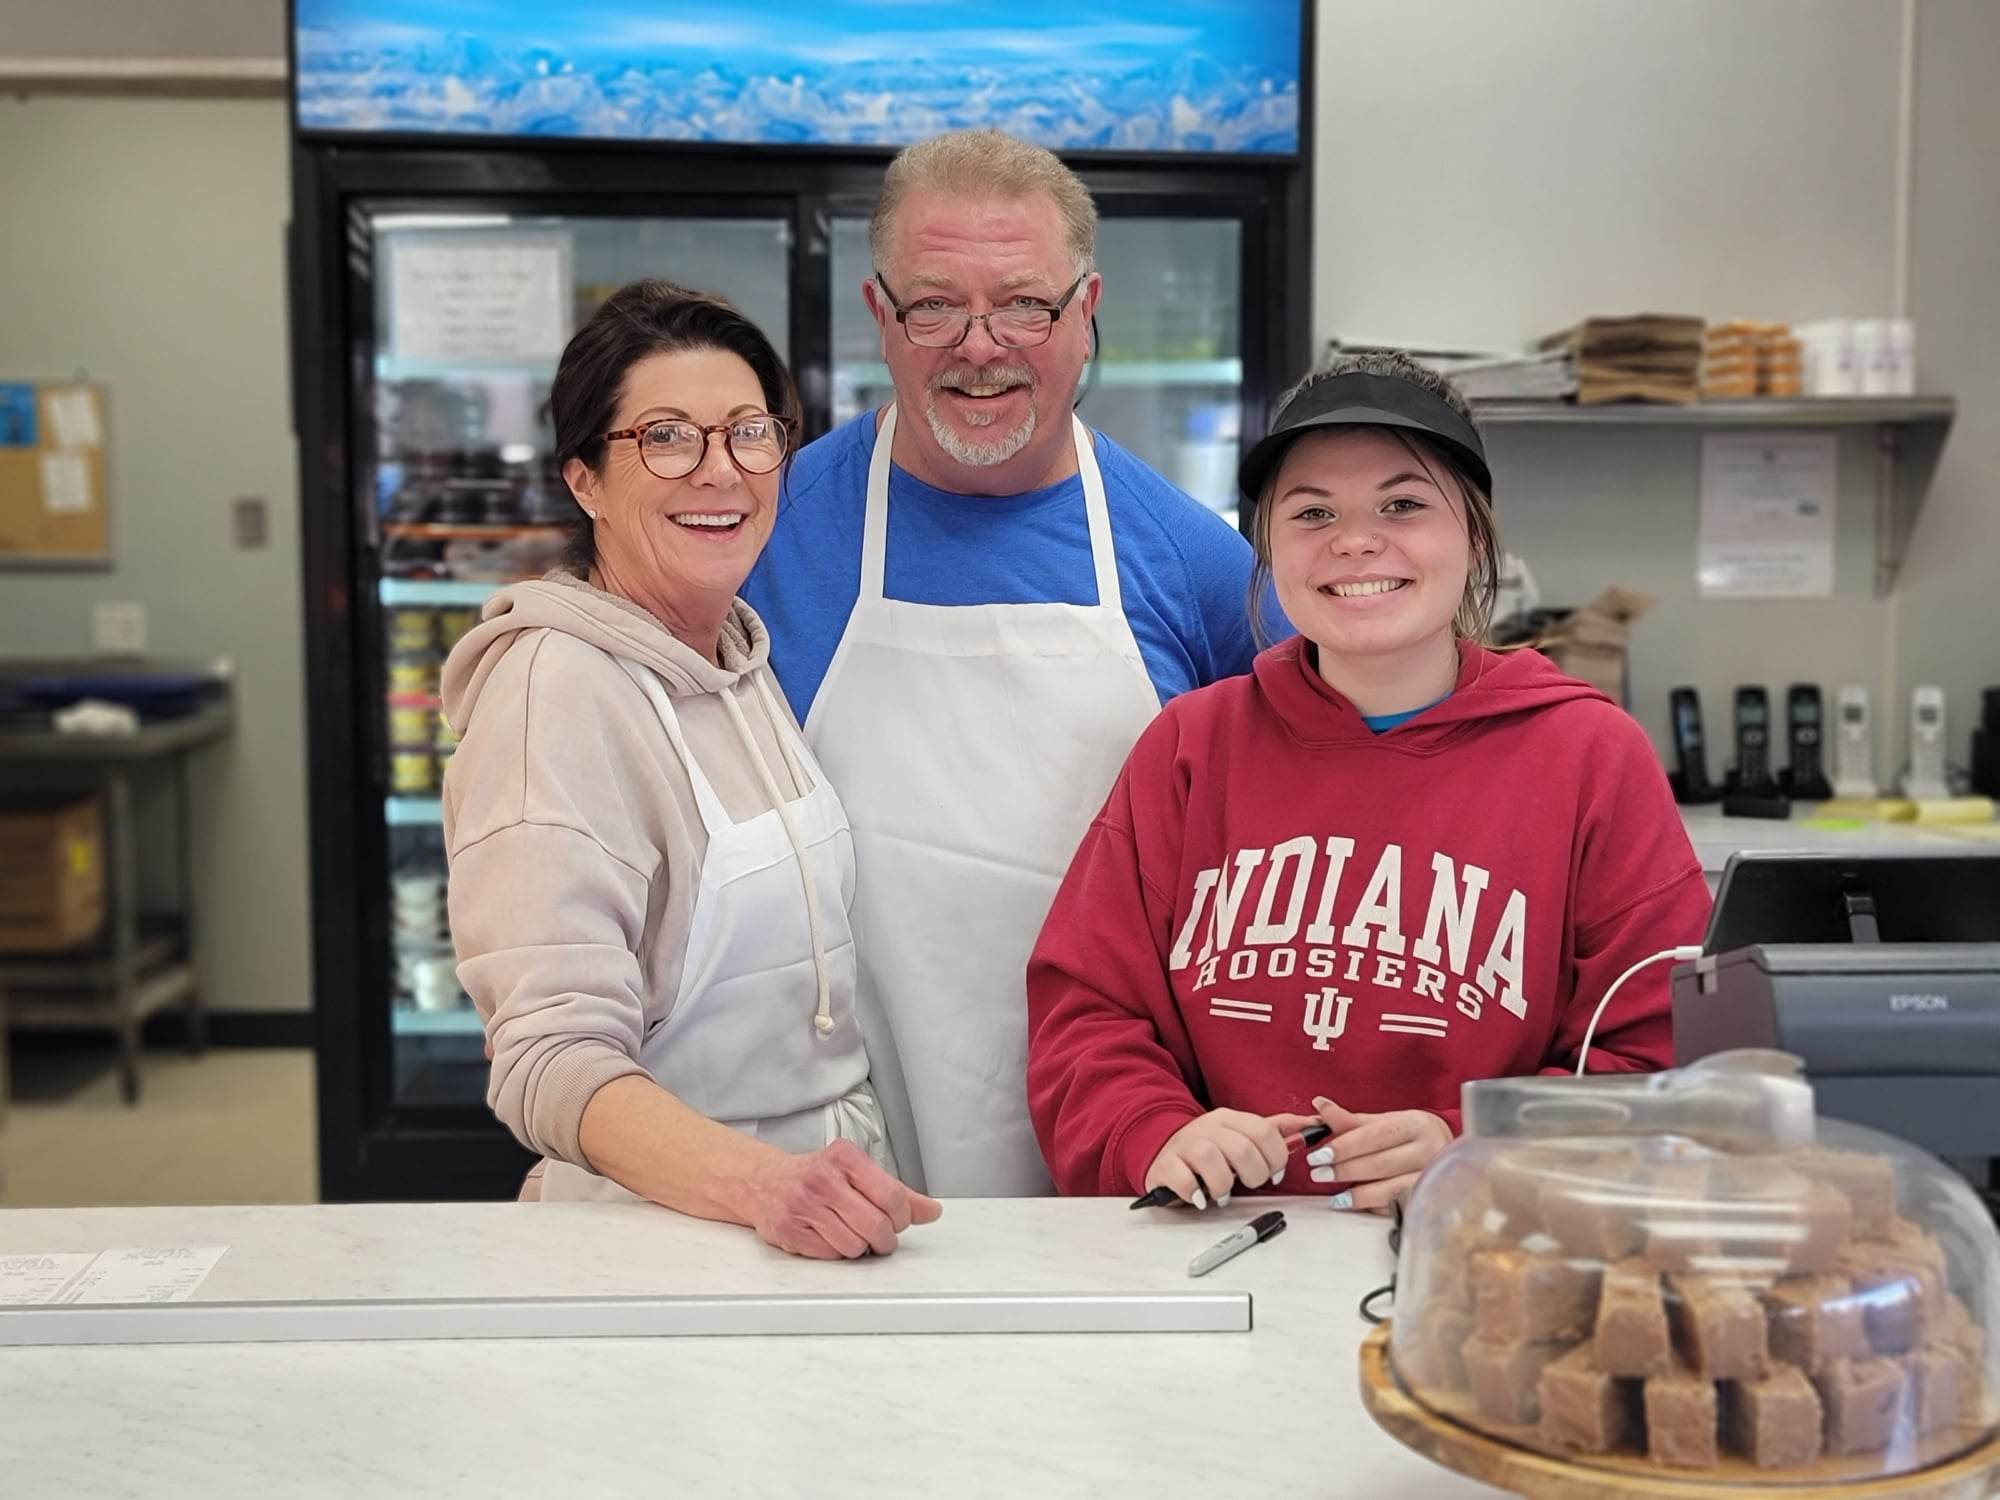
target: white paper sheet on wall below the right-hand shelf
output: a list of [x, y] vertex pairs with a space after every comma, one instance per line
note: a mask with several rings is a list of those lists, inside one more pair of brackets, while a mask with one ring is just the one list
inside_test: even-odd
[[1728, 432], [1702, 438], [1702, 598], [1812, 598], [1834, 592], [1840, 438]]

